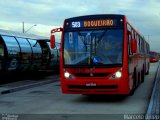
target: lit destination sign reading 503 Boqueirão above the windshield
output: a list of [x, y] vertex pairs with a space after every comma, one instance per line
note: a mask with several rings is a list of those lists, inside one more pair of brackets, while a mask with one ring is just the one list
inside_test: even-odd
[[117, 25], [117, 21], [116, 19], [84, 20], [67, 22], [66, 25], [70, 28], [113, 27]]

